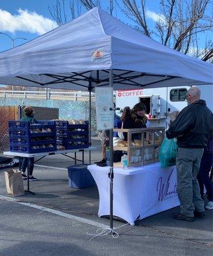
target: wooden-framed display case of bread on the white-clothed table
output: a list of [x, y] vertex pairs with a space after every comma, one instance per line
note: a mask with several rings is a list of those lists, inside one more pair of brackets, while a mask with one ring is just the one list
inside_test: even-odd
[[[158, 152], [165, 128], [114, 129], [115, 132], [127, 132], [128, 140], [118, 141], [114, 150], [121, 150], [128, 155], [128, 166], [142, 166], [159, 161]], [[116, 165], [116, 164], [115, 164]]]

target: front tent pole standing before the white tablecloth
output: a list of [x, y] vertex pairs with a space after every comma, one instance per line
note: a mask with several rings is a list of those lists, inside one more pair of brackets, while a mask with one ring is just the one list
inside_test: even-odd
[[[110, 69], [110, 87], [113, 88], [113, 70]], [[113, 93], [112, 93], [113, 98]], [[112, 100], [113, 102], [113, 100]], [[112, 106], [114, 111], [114, 106]], [[114, 179], [114, 172], [113, 172], [113, 129], [110, 129], [110, 228], [113, 229], [113, 179]]]

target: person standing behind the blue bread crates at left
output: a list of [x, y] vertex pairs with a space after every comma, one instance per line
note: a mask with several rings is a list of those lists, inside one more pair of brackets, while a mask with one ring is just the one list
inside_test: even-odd
[[[31, 106], [24, 108], [25, 116], [20, 119], [22, 122], [29, 122], [30, 124], [36, 124], [34, 119], [34, 109]], [[27, 179], [26, 169], [29, 170], [29, 180], [37, 180], [33, 177], [33, 168], [34, 168], [34, 157], [20, 157], [20, 170], [22, 171], [22, 178]]]

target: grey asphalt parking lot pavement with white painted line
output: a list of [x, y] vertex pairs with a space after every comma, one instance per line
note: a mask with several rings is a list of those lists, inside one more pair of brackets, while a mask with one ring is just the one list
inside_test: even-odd
[[[98, 146], [92, 161], [101, 159]], [[79, 155], [78, 157], [80, 157]], [[85, 157], [89, 161], [89, 156]], [[135, 226], [114, 221], [116, 239], [101, 236], [91, 239], [99, 227], [108, 227], [107, 218], [98, 218], [99, 195], [96, 186], [68, 187], [67, 166], [74, 162], [65, 156], [48, 156], [37, 163], [30, 183], [36, 195], [6, 194], [4, 170], [0, 171], [0, 255], [145, 255], [212, 256], [212, 211], [194, 222], [173, 220], [170, 209]], [[50, 166], [50, 167], [47, 167]], [[26, 187], [26, 181], [24, 181]], [[12, 200], [12, 201], [11, 201]], [[15, 201], [14, 201], [15, 200]]]

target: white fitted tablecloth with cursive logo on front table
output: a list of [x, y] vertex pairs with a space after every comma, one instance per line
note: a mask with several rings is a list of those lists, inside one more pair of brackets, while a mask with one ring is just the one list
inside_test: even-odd
[[[98, 216], [110, 214], [109, 167], [88, 166], [99, 191]], [[161, 168], [159, 163], [136, 168], [114, 168], [113, 214], [134, 225], [143, 219], [179, 205], [176, 166]]]

